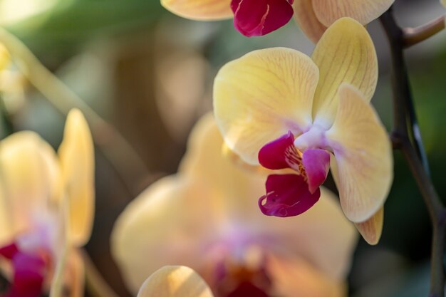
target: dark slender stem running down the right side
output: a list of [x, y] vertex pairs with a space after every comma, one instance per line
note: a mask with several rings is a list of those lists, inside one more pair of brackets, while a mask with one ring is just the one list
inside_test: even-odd
[[380, 17], [390, 43], [393, 74], [393, 125], [392, 140], [395, 149], [403, 152], [406, 162], [415, 177], [432, 222], [432, 254], [430, 267], [430, 297], [445, 294], [445, 207], [432, 184], [427, 166], [427, 157], [422, 145], [420, 130], [415, 115], [412, 93], [405, 66], [403, 48], [405, 33], [396, 24], [392, 11]]

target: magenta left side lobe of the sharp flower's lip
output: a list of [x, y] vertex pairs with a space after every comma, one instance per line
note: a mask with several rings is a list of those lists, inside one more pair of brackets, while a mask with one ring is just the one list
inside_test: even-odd
[[293, 168], [299, 171], [300, 159], [294, 147], [294, 135], [291, 131], [267, 143], [259, 150], [260, 165], [271, 170]]

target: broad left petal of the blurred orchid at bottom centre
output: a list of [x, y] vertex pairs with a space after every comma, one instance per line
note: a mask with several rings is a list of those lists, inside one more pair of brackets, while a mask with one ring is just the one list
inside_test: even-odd
[[164, 177], [128, 204], [113, 227], [111, 251], [130, 290], [160, 266], [206, 261], [197, 251], [219, 230], [209, 197], [218, 199], [189, 179]]

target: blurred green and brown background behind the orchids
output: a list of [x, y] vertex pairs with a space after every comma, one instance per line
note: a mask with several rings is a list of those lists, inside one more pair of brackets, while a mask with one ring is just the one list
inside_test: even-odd
[[[419, 26], [445, 13], [437, 0], [396, 0], [394, 11], [401, 26]], [[142, 189], [177, 170], [192, 125], [212, 108], [212, 80], [219, 67], [257, 48], [313, 50], [293, 21], [269, 36], [245, 38], [231, 21], [181, 19], [158, 0], [0, 0], [0, 25], [134, 149], [123, 150], [113, 133], [103, 132], [103, 145], [96, 150], [95, 225], [86, 246], [100, 273], [123, 297], [130, 294], [110, 257], [113, 222]], [[380, 61], [373, 105], [390, 130], [388, 43], [379, 21], [368, 29]], [[408, 49], [406, 61], [432, 179], [445, 197], [446, 31]], [[58, 146], [64, 115], [24, 75], [14, 68], [0, 73], [0, 91], [2, 137], [36, 130]], [[100, 129], [93, 127], [97, 135]], [[328, 186], [335, 190], [331, 180]], [[383, 236], [378, 246], [359, 241], [350, 296], [427, 296], [430, 238], [425, 206], [403, 157], [395, 152]]]

